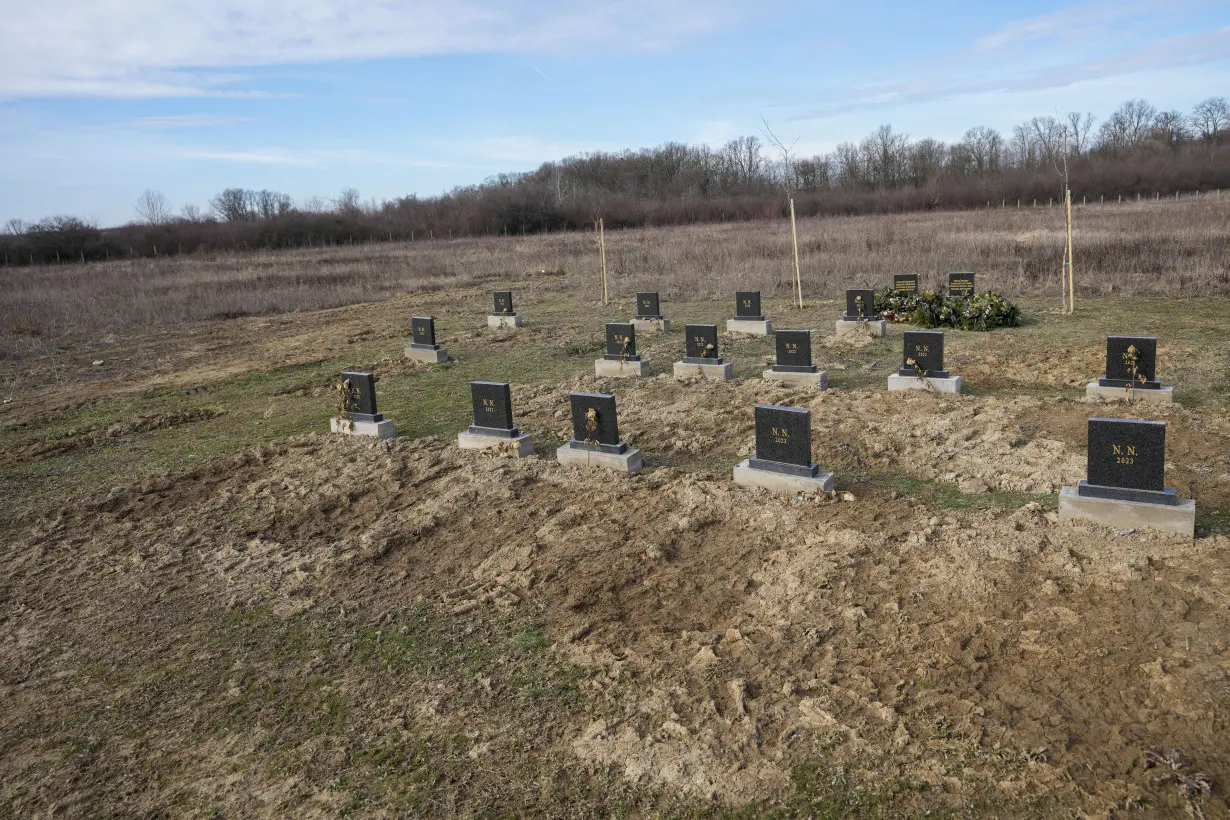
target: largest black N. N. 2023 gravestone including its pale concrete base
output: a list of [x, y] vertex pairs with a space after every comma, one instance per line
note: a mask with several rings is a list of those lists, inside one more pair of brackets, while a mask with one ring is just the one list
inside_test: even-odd
[[1089, 419], [1086, 478], [1059, 493], [1059, 518], [1196, 535], [1196, 502], [1165, 486], [1166, 423]]

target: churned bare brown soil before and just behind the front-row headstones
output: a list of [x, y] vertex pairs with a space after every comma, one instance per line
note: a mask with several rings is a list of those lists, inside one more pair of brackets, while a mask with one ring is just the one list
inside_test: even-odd
[[[749, 439], [750, 400], [793, 401], [817, 412], [818, 450], [847, 440], [849, 462], [921, 473], [940, 460], [958, 481], [1031, 492], [1079, 466], [1061, 443], [1006, 440], [1034, 400], [728, 387], [721, 400], [648, 380], [621, 392], [621, 420], [635, 443], [690, 452]], [[519, 398], [562, 433], [566, 392]], [[910, 423], [938, 401], [951, 418]], [[699, 438], [652, 439], [684, 413]], [[1026, 455], [991, 476], [999, 447]], [[1060, 526], [1037, 504], [935, 514], [669, 467], [622, 478], [429, 439], [305, 436], [34, 524], [5, 567], [14, 615], [0, 658], [39, 668], [55, 642], [108, 628], [114, 607], [184, 584], [224, 611], [338, 610], [373, 625], [419, 600], [454, 613], [533, 607], [592, 670], [583, 691], [604, 717], [563, 727], [558, 744], [599, 771], [738, 802], [781, 797], [791, 768], [823, 752], [859, 777], [929, 784], [927, 805], [1044, 790], [1090, 811], [1141, 794], [1177, 809], [1148, 752], [1178, 749], [1193, 772], [1230, 775], [1218, 707], [1228, 552], [1220, 536]], [[79, 601], [68, 618], [62, 590]], [[39, 669], [10, 714], [53, 696], [37, 684], [58, 666]], [[418, 707], [355, 719], [389, 708]]]

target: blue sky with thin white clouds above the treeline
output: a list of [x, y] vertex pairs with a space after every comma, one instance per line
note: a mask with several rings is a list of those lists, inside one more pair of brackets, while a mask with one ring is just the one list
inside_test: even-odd
[[[0, 223], [1230, 96], [1230, 0], [0, 0]], [[1095, 123], [1095, 128], [1097, 122]]]

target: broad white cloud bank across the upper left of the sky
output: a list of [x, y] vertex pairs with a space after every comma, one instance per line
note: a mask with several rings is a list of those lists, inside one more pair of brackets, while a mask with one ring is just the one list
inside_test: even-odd
[[232, 66], [657, 50], [734, 0], [41, 0], [0, 16], [0, 98], [260, 93]]

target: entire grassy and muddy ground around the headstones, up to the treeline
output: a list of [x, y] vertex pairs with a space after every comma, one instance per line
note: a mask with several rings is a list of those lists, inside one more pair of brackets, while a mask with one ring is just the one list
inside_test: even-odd
[[[2, 816], [1224, 816], [1230, 805], [1230, 200], [0, 272]], [[846, 285], [950, 269], [1026, 321], [948, 333], [962, 396], [884, 392]], [[520, 331], [485, 325], [509, 286]], [[668, 374], [760, 288], [830, 390]], [[603, 322], [659, 290], [656, 374]], [[410, 317], [453, 357], [407, 363]], [[1177, 403], [1085, 403], [1105, 337], [1159, 337]], [[335, 438], [380, 376], [391, 441]], [[538, 456], [461, 452], [513, 382]], [[647, 470], [561, 467], [610, 390]], [[756, 402], [807, 407], [836, 498], [734, 487]], [[1092, 416], [1159, 418], [1194, 541], [1060, 524]]]

